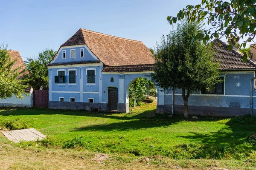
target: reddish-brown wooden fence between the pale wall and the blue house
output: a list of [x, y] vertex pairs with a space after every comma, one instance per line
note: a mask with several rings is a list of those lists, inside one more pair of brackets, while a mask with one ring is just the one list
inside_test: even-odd
[[48, 107], [48, 90], [34, 90], [34, 106]]

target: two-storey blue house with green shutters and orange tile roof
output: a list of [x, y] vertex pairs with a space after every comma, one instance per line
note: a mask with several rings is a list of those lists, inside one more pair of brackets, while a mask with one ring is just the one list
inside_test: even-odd
[[[141, 41], [81, 28], [48, 68], [49, 108], [128, 112], [129, 86], [137, 78], [150, 79], [154, 57]], [[158, 100], [164, 105], [161, 91]]]

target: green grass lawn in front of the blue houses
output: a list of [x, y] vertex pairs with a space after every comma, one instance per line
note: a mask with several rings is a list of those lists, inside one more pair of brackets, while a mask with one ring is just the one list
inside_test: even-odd
[[34, 127], [49, 138], [38, 142], [42, 147], [173, 159], [256, 159], [256, 145], [246, 141], [256, 132], [255, 118], [195, 120], [166, 114], [147, 118], [155, 111], [156, 102], [131, 113], [2, 109], [0, 126]]

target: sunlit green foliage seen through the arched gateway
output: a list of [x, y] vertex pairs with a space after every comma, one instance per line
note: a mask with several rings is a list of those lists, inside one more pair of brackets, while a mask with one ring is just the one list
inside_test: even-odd
[[141, 77], [136, 79], [129, 87], [129, 106], [134, 106], [134, 98], [137, 99], [137, 106], [141, 105], [141, 101], [145, 98], [147, 85], [154, 86], [154, 84], [147, 78]]

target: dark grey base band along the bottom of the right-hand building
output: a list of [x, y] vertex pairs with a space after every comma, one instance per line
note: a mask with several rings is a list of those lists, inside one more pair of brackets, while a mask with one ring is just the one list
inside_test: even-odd
[[[172, 105], [162, 105], [164, 112], [171, 113]], [[225, 108], [211, 106], [188, 106], [190, 115], [202, 116], [245, 116], [250, 115], [249, 108]], [[175, 114], [184, 114], [183, 105], [174, 106]], [[256, 116], [256, 109], [253, 109], [253, 116]]]

